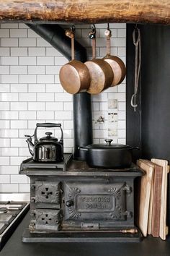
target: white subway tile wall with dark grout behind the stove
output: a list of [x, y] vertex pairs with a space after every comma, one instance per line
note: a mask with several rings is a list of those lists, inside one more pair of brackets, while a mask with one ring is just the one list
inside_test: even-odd
[[[88, 59], [90, 27], [76, 25], [76, 39], [86, 47]], [[97, 57], [102, 58], [106, 54], [107, 24], [96, 28]], [[111, 53], [125, 61], [126, 25], [112, 23], [110, 28]], [[64, 151], [73, 152], [73, 96], [63, 90], [58, 76], [67, 62], [27, 25], [0, 25], [0, 192], [29, 192], [29, 179], [19, 175], [19, 165], [30, 157], [24, 135], [32, 135], [37, 122], [61, 123]], [[108, 100], [112, 109], [108, 108]], [[103, 143], [104, 138], [110, 137], [115, 143], [125, 143], [125, 80], [93, 95], [91, 101], [94, 142]], [[44, 132], [40, 129], [38, 137]], [[52, 132], [60, 137], [58, 129]]]

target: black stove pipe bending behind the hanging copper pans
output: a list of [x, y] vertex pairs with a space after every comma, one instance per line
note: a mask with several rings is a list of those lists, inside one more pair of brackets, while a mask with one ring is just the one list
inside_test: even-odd
[[[65, 30], [59, 25], [27, 24], [32, 30], [47, 40], [51, 46], [61, 52], [68, 60], [71, 60], [71, 40], [66, 37]], [[86, 48], [75, 40], [75, 59], [86, 61]], [[93, 142], [91, 95], [77, 93], [73, 95], [73, 135], [74, 135], [74, 158], [85, 160], [86, 152], [79, 150]]]

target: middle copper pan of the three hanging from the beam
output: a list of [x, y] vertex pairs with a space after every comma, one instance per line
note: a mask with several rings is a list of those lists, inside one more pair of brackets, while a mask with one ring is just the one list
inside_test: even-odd
[[95, 59], [96, 57], [96, 31], [95, 27], [89, 34], [92, 39], [92, 55], [93, 59], [91, 61], [86, 61], [84, 64], [89, 69], [89, 74], [91, 77], [91, 82], [87, 93], [98, 94], [103, 90], [109, 88], [113, 80], [112, 68], [109, 66], [107, 61], [103, 59]]

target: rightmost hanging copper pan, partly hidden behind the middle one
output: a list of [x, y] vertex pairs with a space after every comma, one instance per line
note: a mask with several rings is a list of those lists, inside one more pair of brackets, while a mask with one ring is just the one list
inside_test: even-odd
[[112, 34], [111, 30], [109, 30], [109, 25], [104, 34], [107, 37], [107, 55], [103, 59], [104, 61], [107, 61], [107, 63], [112, 68], [112, 72], [114, 73], [114, 78], [111, 86], [120, 85], [122, 80], [124, 80], [126, 74], [125, 64], [119, 57], [110, 55], [110, 37], [112, 36]]

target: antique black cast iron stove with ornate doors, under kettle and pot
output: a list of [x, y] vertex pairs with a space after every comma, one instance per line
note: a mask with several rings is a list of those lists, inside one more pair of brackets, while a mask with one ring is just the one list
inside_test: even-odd
[[23, 161], [30, 177], [30, 226], [23, 242], [137, 242], [134, 223], [133, 165], [125, 169], [89, 168], [64, 154], [62, 163]]

